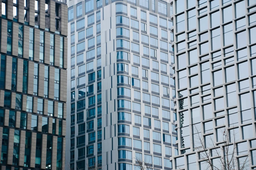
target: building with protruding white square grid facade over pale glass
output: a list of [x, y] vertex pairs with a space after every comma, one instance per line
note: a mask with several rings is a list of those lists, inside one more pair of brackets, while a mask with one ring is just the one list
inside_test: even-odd
[[200, 154], [214, 147], [219, 155], [209, 159], [219, 168], [226, 132], [235, 169], [245, 162], [244, 169], [255, 169], [256, 1], [175, 0], [173, 7], [179, 139], [173, 168], [207, 169]]

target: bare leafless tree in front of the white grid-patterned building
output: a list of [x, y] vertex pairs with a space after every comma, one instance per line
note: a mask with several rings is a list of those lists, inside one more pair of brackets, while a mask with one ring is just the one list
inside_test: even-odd
[[[196, 129], [195, 126], [193, 127]], [[240, 157], [239, 155], [239, 157], [237, 157], [237, 147], [239, 147], [240, 144], [235, 143], [235, 141], [237, 140], [237, 134], [235, 134], [234, 130], [231, 129], [228, 131], [225, 127], [223, 127], [221, 130], [221, 134], [218, 134], [218, 136], [222, 136], [222, 139], [218, 140], [218, 145], [216, 145], [214, 139], [211, 136], [207, 138], [207, 141], [205, 141], [205, 138], [201, 137], [201, 131], [199, 132], [197, 129], [196, 131], [197, 134], [194, 134], [194, 142], [197, 141], [197, 150], [199, 151], [197, 158], [198, 160], [200, 160], [201, 169], [249, 169], [250, 157], [248, 156], [248, 150], [246, 151], [246, 153], [243, 153], [243, 156]]]

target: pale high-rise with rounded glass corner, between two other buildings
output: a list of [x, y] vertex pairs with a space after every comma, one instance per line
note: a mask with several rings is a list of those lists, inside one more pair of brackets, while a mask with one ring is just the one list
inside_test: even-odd
[[137, 170], [137, 157], [170, 170], [178, 154], [171, 1], [67, 4], [66, 168]]

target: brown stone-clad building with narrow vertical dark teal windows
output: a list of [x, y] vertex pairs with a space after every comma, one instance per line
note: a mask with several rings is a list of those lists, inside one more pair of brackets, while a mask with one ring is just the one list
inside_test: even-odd
[[67, 5], [3, 0], [0, 9], [0, 169], [62, 170]]

